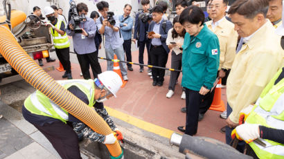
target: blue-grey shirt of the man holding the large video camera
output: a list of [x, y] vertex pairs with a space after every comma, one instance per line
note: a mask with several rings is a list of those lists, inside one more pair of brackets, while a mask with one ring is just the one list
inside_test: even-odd
[[66, 33], [73, 38], [73, 46], [76, 53], [83, 55], [88, 53], [94, 53], [96, 51], [96, 44], [94, 37], [96, 36], [96, 23], [93, 19], [86, 17], [87, 21], [80, 22], [80, 27], [89, 34], [88, 37], [80, 33], [75, 33], [73, 30], [67, 29]]

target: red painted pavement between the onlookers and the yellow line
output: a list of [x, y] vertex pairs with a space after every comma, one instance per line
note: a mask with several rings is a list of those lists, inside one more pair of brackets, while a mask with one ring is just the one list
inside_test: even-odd
[[[147, 63], [147, 53], [144, 56], [144, 62]], [[132, 52], [132, 60], [138, 63], [138, 51]], [[43, 61], [43, 67], [59, 66], [58, 60], [51, 63], [46, 63], [45, 59]], [[82, 79], [80, 77], [81, 71], [79, 64], [71, 65], [73, 79]], [[105, 71], [107, 69], [107, 62], [101, 62], [100, 66]], [[170, 54], [167, 67], [170, 67]], [[152, 79], [150, 79], [147, 72], [148, 68], [144, 68], [143, 73], [139, 73], [139, 66], [133, 66], [133, 68], [134, 71], [128, 71], [127, 76], [129, 81], [125, 87], [118, 91], [116, 98], [113, 97], [111, 100], [105, 102], [105, 105], [145, 122], [151, 122], [160, 127], [179, 132], [177, 127], [183, 126], [186, 122], [186, 114], [180, 112], [180, 109], [186, 104], [185, 100], [181, 100], [180, 98], [181, 75], [179, 76], [179, 83], [175, 88], [175, 94], [168, 99], [166, 98], [166, 93], [168, 93], [170, 76], [165, 77], [163, 86], [152, 86]], [[55, 79], [62, 79], [63, 73], [56, 70], [48, 72]], [[222, 100], [227, 105], [225, 92], [225, 88], [222, 88]], [[197, 135], [215, 138], [224, 142], [225, 135], [224, 133], [220, 133], [220, 128], [224, 127], [225, 120], [219, 117], [221, 113], [219, 111], [207, 111], [204, 115], [204, 120], [198, 124]]]

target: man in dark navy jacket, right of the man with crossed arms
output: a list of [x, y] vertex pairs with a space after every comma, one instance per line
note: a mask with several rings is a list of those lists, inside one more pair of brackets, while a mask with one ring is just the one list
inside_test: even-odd
[[[139, 12], [136, 14], [135, 17], [135, 25], [134, 25], [134, 43], [136, 44], [137, 41], [137, 46], [139, 47], [139, 64], [144, 64], [144, 49], [145, 49], [145, 44], [147, 48], [147, 53], [148, 53], [148, 65], [151, 64], [150, 62], [150, 54], [149, 54], [149, 48], [150, 48], [150, 41], [147, 39], [146, 32], [148, 31], [149, 28], [149, 21], [143, 22], [139, 16], [141, 14], [149, 13], [149, 8], [150, 8], [150, 1], [149, 0], [142, 0], [141, 5], [143, 6], [143, 12]], [[140, 66], [140, 73], [143, 73], [144, 68], [143, 66]], [[148, 73], [151, 73], [152, 70], [151, 68], [148, 68]]]

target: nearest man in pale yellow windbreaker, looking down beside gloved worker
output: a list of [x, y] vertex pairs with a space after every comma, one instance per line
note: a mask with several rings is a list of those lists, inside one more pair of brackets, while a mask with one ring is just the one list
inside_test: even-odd
[[[238, 0], [228, 12], [245, 43], [234, 59], [227, 80], [227, 144], [231, 142], [231, 131], [238, 126], [240, 111], [256, 103], [263, 88], [283, 64], [281, 37], [266, 19], [268, 8], [268, 0]], [[244, 148], [244, 144], [237, 147], [241, 152]]]

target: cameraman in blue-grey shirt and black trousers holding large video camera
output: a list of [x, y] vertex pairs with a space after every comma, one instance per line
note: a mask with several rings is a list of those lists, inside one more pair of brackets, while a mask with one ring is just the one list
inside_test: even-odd
[[[69, 28], [67, 29], [67, 35], [72, 36], [74, 51], [77, 54], [77, 58], [80, 64], [80, 68], [83, 74], [84, 79], [90, 79], [91, 75], [89, 72], [89, 64], [91, 65], [91, 70], [93, 71], [94, 78], [98, 77], [98, 71], [96, 67], [96, 46], [94, 37], [96, 36], [96, 24], [93, 19], [85, 17], [88, 12], [88, 7], [85, 3], [78, 3], [75, 12], [78, 11], [78, 14], [82, 19], [79, 23], [79, 26], [74, 24], [73, 19], [69, 21]], [[72, 16], [71, 16], [72, 17]], [[85, 17], [85, 18], [84, 18]], [[78, 18], [78, 17], [76, 17]], [[78, 27], [80, 31], [78, 32]]]

